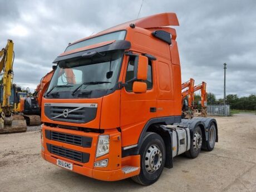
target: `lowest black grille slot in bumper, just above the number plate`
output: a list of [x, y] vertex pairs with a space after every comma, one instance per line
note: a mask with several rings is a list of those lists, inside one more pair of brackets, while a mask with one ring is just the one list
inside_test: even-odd
[[79, 161], [81, 163], [87, 163], [90, 159], [90, 154], [88, 154], [86, 152], [80, 152], [80, 151], [75, 151], [75, 150], [71, 150], [71, 149], [66, 149], [64, 147], [51, 145], [51, 144], [46, 144], [46, 145], [47, 145], [47, 150], [51, 154], [66, 157], [67, 159], [72, 159], [75, 161]]

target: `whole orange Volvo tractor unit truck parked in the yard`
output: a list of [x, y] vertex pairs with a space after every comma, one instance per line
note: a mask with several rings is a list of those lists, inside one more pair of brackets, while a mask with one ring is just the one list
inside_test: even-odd
[[42, 99], [41, 155], [91, 178], [150, 185], [173, 158], [218, 141], [216, 120], [181, 119], [175, 13], [161, 13], [70, 43]]

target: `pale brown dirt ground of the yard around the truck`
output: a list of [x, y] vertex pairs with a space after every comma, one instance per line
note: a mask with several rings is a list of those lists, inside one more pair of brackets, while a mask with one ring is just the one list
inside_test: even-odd
[[40, 132], [0, 135], [0, 191], [256, 191], [256, 115], [217, 117], [219, 142], [196, 159], [178, 156], [159, 181], [105, 182], [47, 163]]

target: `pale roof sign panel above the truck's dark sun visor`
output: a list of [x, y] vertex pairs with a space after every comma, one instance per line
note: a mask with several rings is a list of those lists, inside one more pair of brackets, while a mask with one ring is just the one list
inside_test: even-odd
[[78, 43], [72, 44], [72, 45], [70, 45], [66, 48], [65, 52], [70, 51], [70, 50], [75, 50], [76, 48], [85, 47], [85, 46], [93, 45], [93, 44], [96, 44], [96, 43], [105, 42], [105, 41], [124, 40], [125, 35], [126, 35], [126, 31], [116, 31], [116, 32], [113, 32], [113, 33], [107, 33], [105, 35], [93, 37], [93, 38], [87, 39], [85, 41], [80, 41]]

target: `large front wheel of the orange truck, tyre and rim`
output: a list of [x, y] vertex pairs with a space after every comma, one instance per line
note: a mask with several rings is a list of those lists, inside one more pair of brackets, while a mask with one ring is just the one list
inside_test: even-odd
[[143, 138], [139, 153], [140, 174], [131, 179], [141, 185], [151, 185], [159, 179], [164, 169], [164, 140], [154, 132], [147, 132]]

